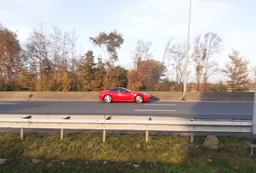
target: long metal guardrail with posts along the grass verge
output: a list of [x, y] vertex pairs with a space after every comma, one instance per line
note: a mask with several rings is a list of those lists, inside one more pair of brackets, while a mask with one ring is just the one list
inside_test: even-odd
[[106, 130], [146, 131], [146, 142], [149, 131], [190, 132], [191, 143], [194, 132], [251, 132], [252, 119], [201, 119], [181, 117], [145, 117], [123, 115], [0, 115], [0, 128], [23, 129], [61, 129], [63, 140], [64, 129], [103, 130], [103, 142]]

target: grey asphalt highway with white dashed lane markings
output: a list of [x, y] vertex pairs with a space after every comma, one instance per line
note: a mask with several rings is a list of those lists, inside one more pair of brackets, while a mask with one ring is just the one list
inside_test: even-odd
[[252, 119], [253, 102], [0, 101], [0, 114], [143, 115]]

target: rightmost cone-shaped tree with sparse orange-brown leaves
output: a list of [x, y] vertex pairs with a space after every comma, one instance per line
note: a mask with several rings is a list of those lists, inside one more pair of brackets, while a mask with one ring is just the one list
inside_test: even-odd
[[245, 56], [241, 56], [238, 50], [232, 49], [232, 53], [228, 54], [229, 60], [225, 62], [225, 68], [221, 71], [224, 72], [224, 76], [230, 78], [227, 80], [227, 84], [234, 91], [236, 87], [245, 86], [249, 84], [250, 79], [248, 77], [250, 70], [248, 64], [250, 61]]

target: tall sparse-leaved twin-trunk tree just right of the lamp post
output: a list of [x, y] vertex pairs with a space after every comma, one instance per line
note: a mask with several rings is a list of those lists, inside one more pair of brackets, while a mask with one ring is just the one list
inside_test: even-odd
[[203, 40], [201, 40], [201, 35], [194, 38], [192, 59], [196, 68], [197, 91], [199, 91], [201, 81], [203, 83], [202, 91], [206, 91], [209, 76], [220, 72], [217, 61], [211, 60], [211, 58], [215, 54], [220, 54], [221, 50], [223, 50], [222, 43], [223, 39], [213, 32], [204, 34]]

